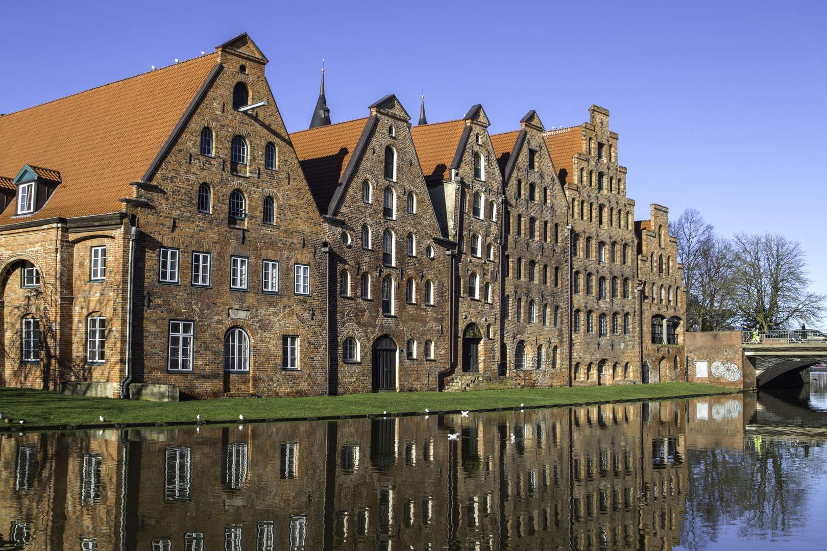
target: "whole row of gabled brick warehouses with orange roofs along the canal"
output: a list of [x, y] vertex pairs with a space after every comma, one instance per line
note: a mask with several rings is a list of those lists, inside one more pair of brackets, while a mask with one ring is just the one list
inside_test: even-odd
[[423, 105], [411, 126], [391, 94], [331, 124], [322, 84], [291, 134], [266, 64], [245, 33], [0, 117], [0, 384], [218, 397], [683, 377], [667, 209], [633, 221], [608, 111], [552, 131], [531, 111], [489, 135], [479, 105], [436, 124]]

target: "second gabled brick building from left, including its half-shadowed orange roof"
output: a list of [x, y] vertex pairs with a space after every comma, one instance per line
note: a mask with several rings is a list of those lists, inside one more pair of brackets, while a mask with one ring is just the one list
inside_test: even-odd
[[437, 390], [449, 365], [446, 251], [409, 115], [394, 95], [370, 116], [290, 135], [324, 220], [337, 393]]

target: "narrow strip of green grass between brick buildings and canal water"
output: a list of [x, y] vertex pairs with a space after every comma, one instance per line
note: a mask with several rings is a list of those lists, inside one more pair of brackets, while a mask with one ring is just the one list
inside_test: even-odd
[[[326, 416], [366, 416], [368, 414], [421, 411], [458, 411], [525, 406], [566, 406], [585, 402], [651, 400], [693, 394], [733, 392], [724, 387], [696, 382], [661, 382], [647, 385], [576, 388], [517, 388], [476, 392], [385, 392], [349, 394], [340, 397], [300, 398], [222, 398], [178, 402], [115, 400], [64, 396], [57, 392], [0, 387], [0, 413], [19, 427], [25, 420], [28, 429], [40, 425], [101, 425], [114, 423], [195, 422], [201, 415], [208, 422], [280, 420]], [[103, 416], [106, 421], [98, 420]]]

